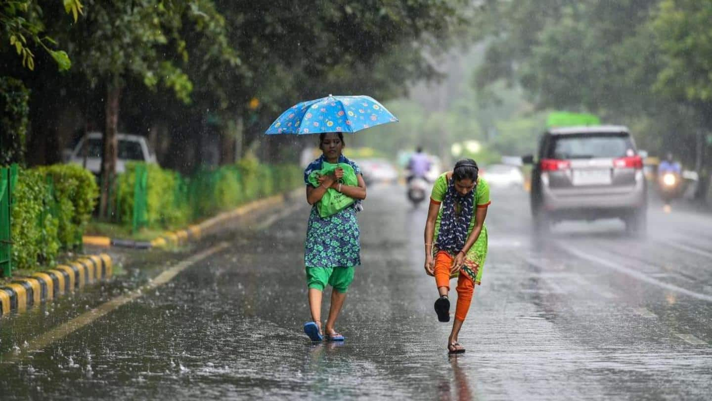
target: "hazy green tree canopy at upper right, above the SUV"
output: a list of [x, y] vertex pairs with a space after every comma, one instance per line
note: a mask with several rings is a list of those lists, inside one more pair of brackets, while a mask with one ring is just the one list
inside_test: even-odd
[[694, 165], [696, 133], [712, 126], [709, 1], [493, 1], [486, 14], [480, 91], [508, 81], [540, 111], [595, 113]]

